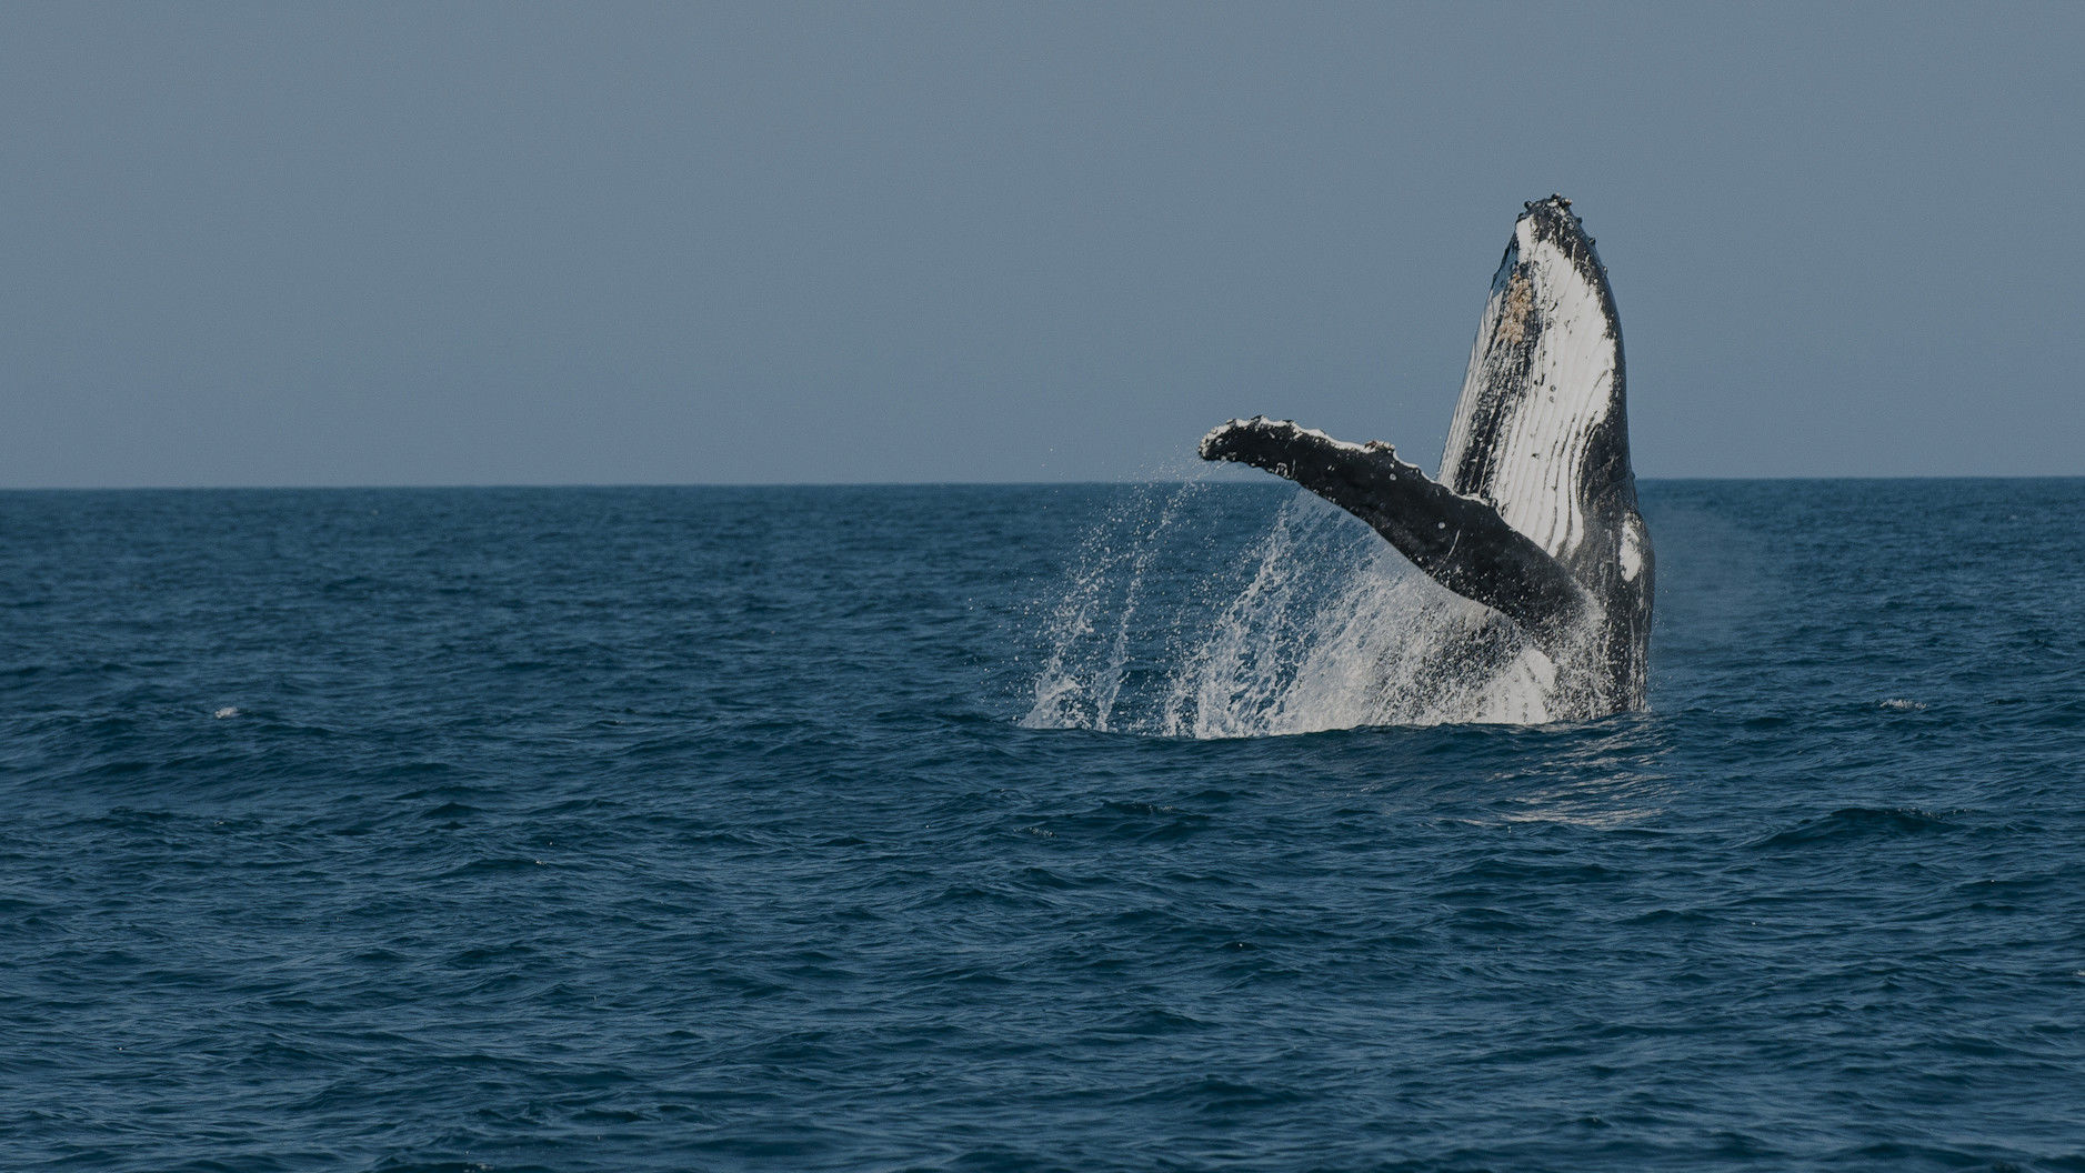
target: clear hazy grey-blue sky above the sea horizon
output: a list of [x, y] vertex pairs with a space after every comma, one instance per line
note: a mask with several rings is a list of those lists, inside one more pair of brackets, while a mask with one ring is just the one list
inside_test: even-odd
[[0, 488], [1432, 467], [1524, 200], [1643, 477], [2085, 475], [2085, 4], [0, 6]]

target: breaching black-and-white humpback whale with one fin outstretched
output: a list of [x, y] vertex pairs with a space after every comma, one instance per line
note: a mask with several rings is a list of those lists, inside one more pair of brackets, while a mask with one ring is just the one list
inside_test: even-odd
[[[1524, 206], [1491, 279], [1441, 479], [1378, 440], [1347, 444], [1268, 417], [1224, 423], [1201, 456], [1289, 477], [1510, 621], [1555, 669], [1551, 719], [1639, 710], [1651, 535], [1628, 467], [1622, 323], [1570, 200]], [[1468, 638], [1501, 646], [1497, 631]]]

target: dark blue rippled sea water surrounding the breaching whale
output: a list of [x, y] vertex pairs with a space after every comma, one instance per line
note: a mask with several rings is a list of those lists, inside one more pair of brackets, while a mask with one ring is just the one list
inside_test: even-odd
[[2085, 1169], [2085, 481], [1643, 492], [1222, 740], [1274, 483], [0, 494], [0, 1167]]

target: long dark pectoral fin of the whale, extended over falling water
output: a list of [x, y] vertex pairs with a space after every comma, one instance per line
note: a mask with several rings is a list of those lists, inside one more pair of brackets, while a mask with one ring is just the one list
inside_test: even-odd
[[1553, 646], [1593, 606], [1562, 563], [1499, 517], [1397, 458], [1389, 444], [1347, 444], [1286, 419], [1234, 419], [1201, 440], [1203, 460], [1286, 477], [1366, 521], [1447, 590], [1505, 615]]

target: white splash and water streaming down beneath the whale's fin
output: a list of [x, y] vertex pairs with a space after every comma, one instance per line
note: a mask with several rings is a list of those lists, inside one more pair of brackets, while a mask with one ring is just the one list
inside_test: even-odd
[[1088, 535], [1022, 725], [1257, 738], [1566, 713], [1555, 667], [1512, 625], [1303, 492], [1243, 556], [1153, 598], [1153, 565], [1197, 544], [1180, 525], [1195, 492], [1145, 490]]

